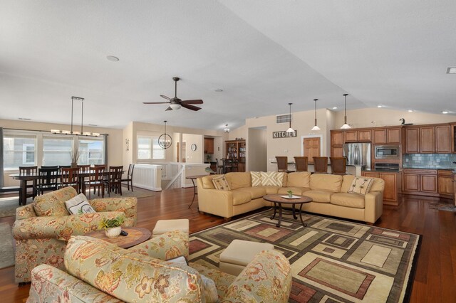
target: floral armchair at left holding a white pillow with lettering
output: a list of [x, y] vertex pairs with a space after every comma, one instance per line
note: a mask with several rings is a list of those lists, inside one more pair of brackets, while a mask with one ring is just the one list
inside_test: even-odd
[[89, 201], [96, 213], [70, 215], [65, 201], [75, 197], [73, 187], [37, 196], [33, 203], [16, 209], [16, 283], [31, 280], [31, 270], [41, 264], [64, 268], [63, 253], [71, 235], [98, 230], [104, 218], [123, 216], [123, 226], [136, 225], [136, 198], [98, 198]]

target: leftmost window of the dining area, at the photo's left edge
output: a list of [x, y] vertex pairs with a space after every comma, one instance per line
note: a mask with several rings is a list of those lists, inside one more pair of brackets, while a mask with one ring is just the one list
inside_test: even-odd
[[36, 136], [5, 132], [4, 169], [18, 169], [19, 166], [33, 166], [36, 163]]

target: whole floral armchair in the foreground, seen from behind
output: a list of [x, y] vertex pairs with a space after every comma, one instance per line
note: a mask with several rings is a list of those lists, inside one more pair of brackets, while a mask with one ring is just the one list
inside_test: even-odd
[[[164, 233], [125, 250], [102, 240], [68, 241], [66, 270], [40, 265], [32, 271], [27, 302], [287, 302], [289, 261], [262, 251], [237, 277], [204, 265], [167, 261], [188, 256], [188, 234]], [[202, 281], [202, 275], [211, 283]], [[212, 287], [209, 287], [209, 286]], [[209, 288], [215, 292], [208, 297]], [[210, 300], [209, 300], [210, 299]]]

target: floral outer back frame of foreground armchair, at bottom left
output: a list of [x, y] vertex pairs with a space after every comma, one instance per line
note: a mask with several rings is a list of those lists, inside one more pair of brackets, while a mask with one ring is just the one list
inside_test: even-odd
[[31, 272], [27, 302], [122, 302], [51, 265]]

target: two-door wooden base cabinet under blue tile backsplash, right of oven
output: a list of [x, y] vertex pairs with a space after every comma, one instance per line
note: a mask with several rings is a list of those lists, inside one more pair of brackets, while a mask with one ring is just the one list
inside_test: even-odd
[[404, 169], [403, 193], [438, 196], [436, 169]]

